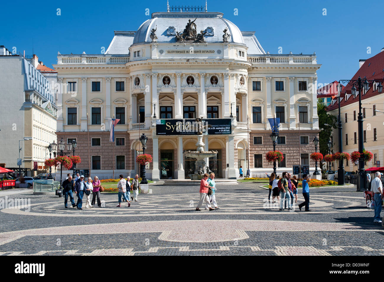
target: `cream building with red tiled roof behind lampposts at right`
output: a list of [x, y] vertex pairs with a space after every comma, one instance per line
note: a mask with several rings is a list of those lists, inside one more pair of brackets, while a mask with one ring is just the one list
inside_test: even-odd
[[[383, 83], [384, 78], [384, 48], [375, 56], [359, 61], [359, 69], [352, 79], [358, 77], [367, 80], [375, 80]], [[359, 91], [356, 91], [356, 97], [351, 93], [350, 85], [346, 85], [341, 92], [340, 114], [342, 122], [342, 136], [338, 134], [338, 129], [333, 130], [333, 150], [339, 151], [338, 139], [341, 138], [343, 144], [343, 152], [352, 153], [359, 151], [359, 133], [358, 133], [358, 115], [359, 115]], [[365, 150], [372, 152], [373, 158], [370, 162], [365, 163], [365, 168], [383, 166], [384, 155], [384, 93], [377, 91], [377, 83], [370, 84], [369, 89], [363, 89], [361, 96], [362, 115], [363, 115], [363, 142]], [[338, 116], [337, 97], [333, 98], [332, 105], [328, 107], [328, 113]], [[337, 166], [338, 163], [335, 162]], [[344, 169], [348, 172], [356, 172], [358, 170], [358, 162], [353, 163], [344, 160]]]

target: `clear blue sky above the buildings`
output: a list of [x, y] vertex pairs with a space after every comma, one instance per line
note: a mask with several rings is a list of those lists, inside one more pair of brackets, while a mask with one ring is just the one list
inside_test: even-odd
[[[32, 4], [33, 3], [33, 4]], [[205, 5], [205, 0], [170, 5]], [[0, 10], [0, 45], [34, 53], [47, 66], [61, 54], [99, 54], [108, 48], [114, 30], [137, 30], [153, 12], [166, 12], [161, 1], [18, 1]], [[252, 1], [208, 0], [209, 12], [222, 12], [242, 31], [256, 31], [265, 51], [312, 54], [316, 51], [318, 83], [350, 79], [359, 59], [384, 47], [382, 1]], [[61, 15], [56, 15], [56, 9]], [[234, 15], [234, 9], [238, 15]], [[326, 15], [323, 15], [323, 9]], [[377, 35], [378, 34], [378, 35]], [[367, 54], [367, 47], [371, 54]]]

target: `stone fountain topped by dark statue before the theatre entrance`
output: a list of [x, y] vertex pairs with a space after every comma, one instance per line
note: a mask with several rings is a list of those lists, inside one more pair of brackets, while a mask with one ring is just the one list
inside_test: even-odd
[[[217, 154], [217, 151], [210, 150], [210, 151], [204, 151], [205, 144], [203, 143], [203, 129], [205, 127], [211, 127], [211, 125], [203, 125], [204, 120], [202, 118], [198, 118], [195, 120], [197, 124], [197, 149], [196, 151], [188, 151], [184, 152], [185, 157], [189, 158], [195, 158], [195, 171], [194, 175], [192, 175], [192, 180], [198, 180], [202, 178], [202, 175], [204, 172], [204, 167], [207, 167], [207, 163], [205, 162], [206, 158], [214, 157]], [[207, 167], [207, 172], [210, 171]]]

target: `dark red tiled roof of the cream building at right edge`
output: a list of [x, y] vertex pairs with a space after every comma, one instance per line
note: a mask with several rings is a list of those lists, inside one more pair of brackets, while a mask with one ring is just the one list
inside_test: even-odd
[[[357, 80], [359, 76], [361, 77], [361, 79], [364, 79], [364, 77], [366, 77], [367, 80], [376, 80], [383, 83], [384, 82], [384, 51], [380, 52], [379, 54], [376, 54], [372, 58], [367, 59], [351, 79]], [[345, 97], [346, 93], [351, 94], [351, 88], [352, 86], [347, 84], [344, 87], [343, 91], [341, 92], [340, 97]], [[377, 91], [377, 89], [374, 91], [371, 84], [367, 93], [361, 96], [361, 100], [370, 98], [372, 96], [376, 96], [378, 94], [380, 94], [379, 91]], [[345, 99], [342, 99], [340, 101], [340, 107], [352, 104], [357, 101], [359, 101], [358, 95], [356, 95], [356, 97], [353, 97], [353, 96], [349, 97], [347, 101], [345, 101]], [[336, 101], [333, 105], [329, 106], [327, 110], [333, 110], [333, 109], [336, 109], [337, 107], [338, 107], [338, 103]]]

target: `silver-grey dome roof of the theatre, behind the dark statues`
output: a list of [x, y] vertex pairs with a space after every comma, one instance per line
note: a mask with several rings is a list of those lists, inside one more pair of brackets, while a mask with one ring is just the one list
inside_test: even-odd
[[[210, 12], [153, 13], [152, 18], [142, 23], [137, 30], [133, 44], [151, 42], [150, 35], [152, 28], [156, 29], [157, 42], [175, 43], [175, 31], [182, 33], [188, 20], [195, 20], [194, 23], [196, 24], [197, 33], [200, 33], [201, 30], [206, 31], [208, 27], [213, 28], [212, 33], [204, 35], [205, 42], [223, 42], [223, 30], [227, 28], [227, 33], [230, 34], [228, 42], [245, 44], [242, 33], [236, 25], [224, 19], [222, 13]], [[168, 30], [170, 26], [175, 28], [174, 32]]]

